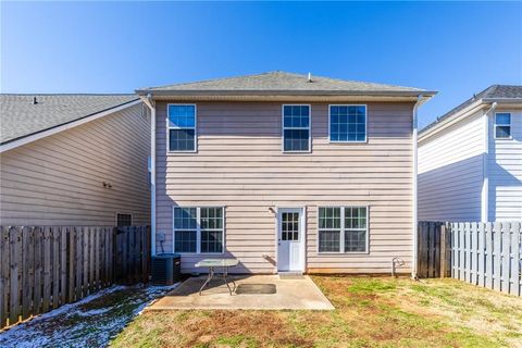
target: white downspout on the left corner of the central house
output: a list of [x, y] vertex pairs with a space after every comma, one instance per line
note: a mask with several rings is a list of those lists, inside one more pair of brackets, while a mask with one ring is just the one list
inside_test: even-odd
[[156, 103], [150, 94], [140, 98], [150, 109], [150, 253], [156, 256]]

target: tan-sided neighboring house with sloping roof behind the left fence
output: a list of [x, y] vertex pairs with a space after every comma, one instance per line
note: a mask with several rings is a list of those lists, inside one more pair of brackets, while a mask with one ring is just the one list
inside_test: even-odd
[[136, 95], [0, 95], [0, 225], [150, 222]]

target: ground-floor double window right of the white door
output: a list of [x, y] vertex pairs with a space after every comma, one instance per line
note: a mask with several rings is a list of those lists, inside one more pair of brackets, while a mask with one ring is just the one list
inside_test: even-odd
[[319, 208], [319, 252], [368, 252], [368, 208]]

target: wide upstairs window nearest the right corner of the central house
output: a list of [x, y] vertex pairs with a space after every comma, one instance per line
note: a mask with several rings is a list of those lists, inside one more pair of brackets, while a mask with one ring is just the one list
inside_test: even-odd
[[365, 142], [366, 107], [330, 105], [330, 141]]

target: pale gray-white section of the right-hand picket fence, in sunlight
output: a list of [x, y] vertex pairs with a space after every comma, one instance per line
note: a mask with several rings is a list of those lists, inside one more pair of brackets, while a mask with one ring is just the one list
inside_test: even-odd
[[451, 223], [451, 277], [506, 294], [522, 293], [522, 222]]

